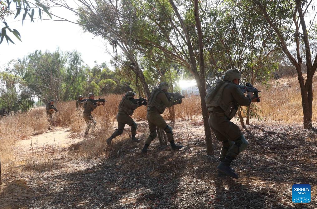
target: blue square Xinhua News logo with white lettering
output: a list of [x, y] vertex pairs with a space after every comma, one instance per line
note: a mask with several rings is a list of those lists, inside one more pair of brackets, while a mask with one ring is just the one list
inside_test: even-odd
[[309, 203], [310, 197], [309, 184], [294, 184], [292, 186], [292, 201], [294, 203]]

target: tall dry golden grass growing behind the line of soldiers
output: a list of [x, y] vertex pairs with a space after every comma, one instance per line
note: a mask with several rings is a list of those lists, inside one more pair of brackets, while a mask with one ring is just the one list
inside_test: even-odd
[[[314, 87], [317, 78], [314, 78]], [[272, 84], [272, 87], [265, 89], [258, 87], [261, 92], [261, 103], [256, 103], [260, 112], [259, 115], [266, 122], [283, 121], [288, 123], [301, 123], [303, 119], [301, 106], [301, 93], [296, 78], [280, 79]], [[105, 146], [105, 140], [117, 128], [115, 116], [118, 105], [123, 95], [108, 95], [105, 98], [105, 106], [100, 106], [92, 113], [97, 121], [96, 129], [91, 133], [91, 138], [87, 139], [85, 145], [70, 147], [70, 154], [84, 158], [107, 157], [116, 154], [124, 147], [124, 142], [128, 136], [129, 128], [114, 139], [115, 145], [109, 149]], [[317, 98], [317, 91], [314, 91], [314, 98]], [[85, 128], [86, 122], [82, 118], [82, 111], [76, 111], [75, 101], [55, 104], [58, 112], [53, 114], [53, 126], [70, 127], [74, 137], [80, 137]], [[316, 120], [317, 108], [316, 100], [313, 103], [313, 118]], [[191, 120], [195, 117], [201, 118], [200, 98], [190, 97], [183, 99], [182, 104], [175, 105], [176, 119]], [[163, 114], [165, 119], [170, 118], [168, 109]], [[146, 120], [146, 107], [139, 107], [133, 114], [133, 119]], [[32, 135], [37, 135], [47, 131], [47, 118], [45, 108], [36, 108], [30, 113], [18, 114], [0, 120], [0, 152], [2, 172], [13, 174], [19, 172], [21, 165], [28, 165], [29, 170], [39, 170], [41, 167], [52, 165], [55, 147], [46, 147], [42, 150], [34, 151], [32, 158], [20, 159], [16, 150], [18, 141], [28, 139]], [[138, 134], [146, 133], [148, 130], [144, 126], [139, 126]], [[36, 143], [36, 142], [35, 142]], [[25, 167], [25, 166], [24, 166]]]

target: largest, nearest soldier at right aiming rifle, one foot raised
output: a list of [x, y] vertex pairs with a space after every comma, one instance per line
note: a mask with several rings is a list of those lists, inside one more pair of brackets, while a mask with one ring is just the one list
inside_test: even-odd
[[230, 163], [247, 148], [249, 143], [239, 127], [230, 120], [235, 116], [239, 105], [249, 106], [258, 99], [258, 97], [253, 98], [252, 92], [247, 92], [247, 96], [244, 96], [237, 86], [240, 78], [241, 73], [238, 70], [227, 70], [205, 97], [210, 128], [216, 138], [223, 143], [217, 169], [236, 179], [238, 175], [230, 167]]

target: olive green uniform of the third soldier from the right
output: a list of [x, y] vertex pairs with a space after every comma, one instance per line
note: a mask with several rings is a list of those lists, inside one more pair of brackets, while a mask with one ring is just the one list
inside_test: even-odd
[[124, 126], [130, 125], [131, 126], [131, 135], [135, 137], [135, 133], [137, 130], [137, 124], [134, 122], [134, 120], [130, 117], [133, 115], [133, 112], [139, 107], [138, 104], [134, 104], [131, 100], [133, 98], [126, 98], [123, 97], [120, 104], [119, 104], [119, 111], [116, 116], [117, 121], [118, 121], [118, 129], [116, 129], [113, 134], [110, 137], [110, 141], [121, 135], [124, 130]]

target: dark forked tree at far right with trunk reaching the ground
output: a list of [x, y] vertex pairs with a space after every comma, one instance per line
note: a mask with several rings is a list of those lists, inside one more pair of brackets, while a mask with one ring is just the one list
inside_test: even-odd
[[[272, 39], [288, 57], [295, 67], [303, 109], [303, 126], [312, 128], [312, 104], [313, 104], [313, 76], [317, 68], [317, 54], [311, 50], [311, 43], [316, 39], [317, 25], [315, 10], [316, 2], [313, 0], [231, 0], [236, 5], [243, 5], [253, 17], [265, 20], [274, 31]], [[305, 50], [301, 51], [301, 43]], [[291, 54], [295, 47], [296, 56]], [[302, 72], [306, 65], [307, 78]]]

